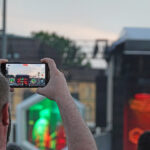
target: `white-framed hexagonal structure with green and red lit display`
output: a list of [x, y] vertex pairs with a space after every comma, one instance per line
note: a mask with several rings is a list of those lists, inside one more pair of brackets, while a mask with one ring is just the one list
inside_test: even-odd
[[[84, 105], [75, 103], [84, 117]], [[17, 144], [26, 150], [64, 150], [67, 148], [64, 126], [57, 104], [34, 94], [17, 107]]]

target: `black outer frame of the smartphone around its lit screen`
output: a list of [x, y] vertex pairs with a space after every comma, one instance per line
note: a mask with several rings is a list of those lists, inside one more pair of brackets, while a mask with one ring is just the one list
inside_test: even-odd
[[[1, 64], [1, 73], [6, 77], [6, 64], [45, 64], [45, 86], [49, 81], [49, 68], [46, 63], [26, 63], [26, 62], [7, 62]], [[6, 77], [7, 78], [7, 77]], [[8, 79], [8, 78], [7, 78]], [[12, 86], [9, 85], [11, 88], [38, 88], [38, 87], [45, 87], [45, 86]]]

